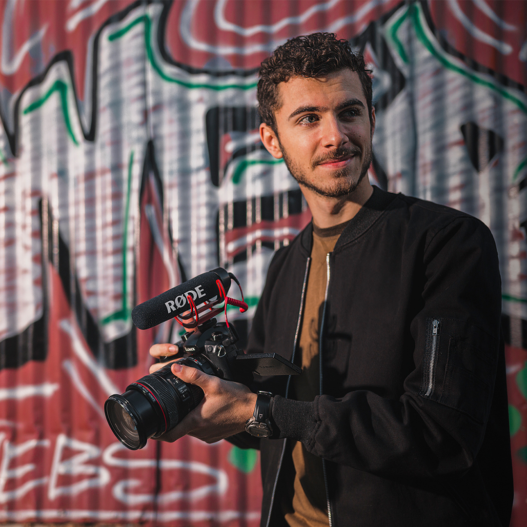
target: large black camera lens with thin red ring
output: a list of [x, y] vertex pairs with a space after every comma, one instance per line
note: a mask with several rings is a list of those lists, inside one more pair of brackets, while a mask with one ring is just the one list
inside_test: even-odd
[[[214, 375], [208, 360], [194, 355], [177, 360]], [[138, 450], [150, 437], [171, 430], [203, 398], [198, 386], [184, 383], [173, 375], [171, 364], [126, 387], [122, 395], [111, 395], [104, 403], [104, 413], [112, 432], [130, 450]]]

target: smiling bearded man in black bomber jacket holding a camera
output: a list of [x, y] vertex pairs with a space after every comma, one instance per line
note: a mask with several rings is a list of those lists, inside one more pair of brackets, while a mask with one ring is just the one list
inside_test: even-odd
[[174, 365], [205, 397], [163, 439], [237, 434], [230, 440], [258, 446], [262, 525], [508, 525], [490, 231], [372, 188], [372, 82], [346, 41], [294, 38], [260, 76], [262, 143], [297, 179], [313, 222], [270, 264], [249, 352], [277, 352], [304, 372], [265, 379], [269, 393], [257, 396]]

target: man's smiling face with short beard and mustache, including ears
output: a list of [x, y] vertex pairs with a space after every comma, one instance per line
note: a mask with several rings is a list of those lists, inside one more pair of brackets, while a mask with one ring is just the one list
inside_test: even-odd
[[375, 126], [358, 74], [345, 69], [317, 79], [293, 77], [278, 90], [278, 133], [260, 126], [266, 148], [284, 159], [301, 186], [320, 196], [354, 192], [372, 161]]

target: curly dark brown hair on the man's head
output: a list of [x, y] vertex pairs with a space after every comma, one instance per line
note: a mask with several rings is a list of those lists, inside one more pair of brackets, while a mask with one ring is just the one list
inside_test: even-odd
[[261, 63], [257, 97], [262, 121], [277, 133], [275, 111], [280, 108], [280, 82], [287, 82], [292, 77], [324, 77], [344, 68], [358, 73], [371, 122], [372, 71], [366, 69], [363, 54], [355, 53], [349, 42], [344, 38], [337, 39], [335, 33], [311, 33], [290, 38]]

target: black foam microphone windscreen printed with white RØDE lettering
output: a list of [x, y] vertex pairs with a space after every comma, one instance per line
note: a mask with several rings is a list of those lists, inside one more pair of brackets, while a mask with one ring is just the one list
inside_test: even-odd
[[214, 304], [222, 301], [216, 280], [221, 281], [225, 295], [227, 295], [231, 279], [225, 269], [218, 267], [135, 306], [132, 309], [133, 323], [139, 329], [149, 329], [181, 315], [185, 311], [190, 311], [187, 298], [189, 295], [196, 306], [203, 304], [203, 302]]

